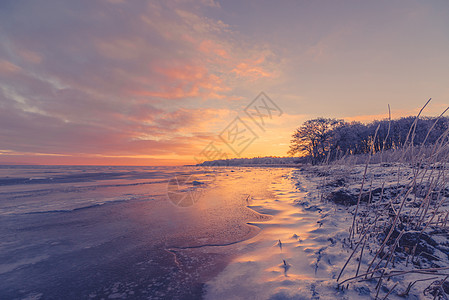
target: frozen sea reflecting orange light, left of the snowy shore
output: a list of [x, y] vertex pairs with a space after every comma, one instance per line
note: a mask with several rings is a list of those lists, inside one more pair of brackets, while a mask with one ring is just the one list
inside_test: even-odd
[[201, 298], [289, 172], [0, 166], [0, 299]]

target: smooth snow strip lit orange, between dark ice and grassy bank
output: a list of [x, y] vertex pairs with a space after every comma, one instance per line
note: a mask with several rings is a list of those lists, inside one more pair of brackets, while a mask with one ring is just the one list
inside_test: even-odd
[[251, 223], [261, 232], [240, 243], [240, 255], [208, 282], [206, 299], [369, 298], [369, 291], [336, 289], [347, 251], [335, 237], [346, 235], [339, 227], [348, 214], [321, 203], [311, 185], [293, 170], [271, 184], [275, 199], [252, 199], [250, 208], [273, 218]]

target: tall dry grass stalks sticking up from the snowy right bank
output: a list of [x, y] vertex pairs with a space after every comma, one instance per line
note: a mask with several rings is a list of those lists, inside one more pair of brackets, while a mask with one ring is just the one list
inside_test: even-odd
[[[383, 141], [382, 150], [380, 151], [380, 153], [374, 153], [374, 149], [372, 149], [372, 151], [370, 151], [370, 153], [365, 156], [359, 155], [358, 157], [355, 157], [346, 153], [341, 157], [339, 161], [339, 163], [342, 163], [346, 166], [352, 166], [360, 163], [360, 159], [365, 158], [363, 162], [365, 167], [363, 178], [361, 179], [361, 187], [357, 199], [357, 205], [354, 210], [352, 226], [349, 230], [349, 241], [351, 243], [351, 248], [352, 240], [355, 239], [356, 234], [360, 234], [360, 239], [357, 243], [355, 243], [355, 247], [353, 248], [352, 253], [342, 267], [337, 278], [337, 282], [340, 281], [344, 270], [347, 268], [351, 259], [360, 248], [360, 245], [362, 245], [362, 247], [355, 276], [339, 282], [339, 286], [342, 286], [345, 283], [347, 284], [351, 281], [360, 282], [371, 280], [371, 278], [377, 279], [377, 298], [382, 284], [386, 279], [389, 279], [393, 276], [402, 276], [407, 274], [423, 274], [433, 276], [430, 278], [415, 280], [411, 282], [408, 285], [406, 291], [403, 293], [403, 295], [405, 296], [409, 294], [410, 289], [417, 282], [427, 281], [438, 278], [440, 276], [445, 276], [445, 278], [441, 280], [441, 283], [439, 285], [439, 288], [441, 289], [441, 286], [443, 285], [445, 280], [449, 278], [449, 274], [441, 272], [449, 269], [449, 267], [411, 269], [406, 271], [394, 270], [395, 255], [397, 253], [396, 249], [400, 245], [401, 238], [405, 233], [412, 231], [413, 234], [415, 232], [418, 234], [416, 244], [413, 245], [411, 251], [400, 250], [406, 251], [404, 254], [406, 257], [407, 266], [409, 258], [411, 258], [411, 261], [414, 261], [418, 243], [421, 237], [425, 234], [426, 230], [428, 230], [430, 227], [436, 227], [439, 228], [439, 230], [446, 230], [448, 226], [449, 211], [442, 209], [442, 207], [445, 207], [444, 205], [447, 201], [447, 198], [443, 196], [443, 193], [446, 193], [445, 191], [447, 191], [446, 186], [448, 183], [446, 163], [449, 161], [449, 128], [437, 138], [436, 142], [433, 145], [429, 146], [426, 145], [426, 143], [438, 121], [447, 111], [449, 111], [449, 107], [446, 108], [444, 112], [435, 119], [432, 126], [427, 131], [424, 140], [421, 142], [421, 145], [415, 145], [418, 120], [421, 116], [421, 113], [430, 101], [431, 99], [429, 99], [425, 103], [425, 105], [421, 108], [415, 120], [413, 121], [412, 125], [410, 126], [405, 143], [402, 145], [402, 149], [385, 151], [385, 144], [387, 142], [388, 136], [390, 135], [391, 122], [391, 111], [390, 107], [388, 107], [390, 122], [388, 126], [387, 136]], [[376, 140], [379, 126], [376, 128], [374, 139], [372, 141]], [[365, 207], [365, 205], [361, 205], [361, 199], [364, 193], [365, 182], [369, 178], [369, 164], [378, 161], [380, 161], [381, 163], [386, 161], [397, 163], [392, 165], [392, 168], [396, 168], [397, 170], [396, 194], [394, 195], [394, 197], [388, 198], [388, 200], [385, 199], [386, 182], [383, 181], [380, 197], [376, 195], [377, 198], [373, 198], [373, 190], [375, 188], [375, 185], [373, 184], [374, 179], [373, 177], [371, 177], [368, 201]], [[410, 176], [407, 175], [407, 165], [410, 166], [411, 177], [406, 177], [407, 183], [401, 186], [401, 176]], [[393, 186], [389, 186], [388, 188], [391, 189], [393, 187], [394, 184]], [[413, 194], [413, 197], [409, 198], [411, 194]], [[385, 215], [385, 212], [388, 212], [388, 214]], [[359, 228], [360, 231], [358, 230]], [[390, 245], [390, 241], [392, 240], [394, 232], [398, 232], [398, 235], [396, 236], [397, 233], [395, 233], [396, 238]], [[373, 258], [370, 261], [365, 273], [359, 274], [364, 249], [368, 244], [371, 245], [370, 247], [372, 249], [372, 245], [377, 244], [379, 234], [382, 235], [382, 242], [379, 244], [377, 249], [374, 249], [375, 251], [373, 252]], [[388, 247], [388, 251], [384, 252], [387, 244], [389, 244], [390, 246]], [[430, 254], [426, 253], [426, 255], [429, 256]], [[420, 256], [420, 254], [418, 254], [418, 256]], [[437, 257], [434, 257], [434, 259], [438, 260]], [[384, 266], [381, 267], [382, 262], [385, 263]], [[391, 268], [393, 268], [393, 270], [389, 270]], [[369, 275], [371, 275], [370, 278], [368, 278]], [[389, 290], [384, 299], [386, 299], [391, 294], [396, 286], [397, 283]], [[438, 285], [436, 286], [436, 288], [438, 288]]]

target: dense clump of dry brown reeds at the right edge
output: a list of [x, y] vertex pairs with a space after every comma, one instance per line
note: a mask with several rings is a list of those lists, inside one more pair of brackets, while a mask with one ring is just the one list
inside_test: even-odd
[[[418, 263], [420, 257], [432, 256], [432, 253], [418, 253], [420, 242], [429, 236], [427, 232], [432, 230], [447, 233], [449, 225], [449, 209], [444, 205], [448, 201], [446, 164], [449, 160], [449, 129], [435, 144], [426, 145], [431, 130], [448, 109], [435, 120], [423, 143], [419, 146], [414, 145], [418, 119], [429, 102], [430, 99], [416, 116], [401, 149], [375, 154], [373, 151], [368, 155], [357, 157], [346, 156], [337, 162], [354, 165], [364, 160], [365, 164], [360, 193], [349, 228], [349, 244], [352, 252], [337, 278], [339, 288], [347, 287], [353, 282], [375, 281], [376, 299], [380, 297], [382, 287], [388, 290], [383, 296], [386, 299], [397, 286], [396, 283], [390, 289], [387, 288], [386, 283], [391, 278], [402, 276], [403, 280], [407, 280], [406, 275], [419, 273], [422, 277], [410, 281], [407, 289], [402, 292], [403, 296], [407, 295], [417, 282], [432, 281], [423, 292], [433, 295], [434, 299], [447, 299], [443, 285], [449, 278], [449, 266], [434, 264], [422, 268]], [[377, 130], [373, 140], [376, 139]], [[397, 168], [394, 171], [398, 174], [395, 186], [387, 187], [386, 181], [381, 182], [380, 195], [378, 193], [376, 199], [372, 194], [372, 179], [371, 183], [367, 183], [369, 164], [373, 162], [390, 163], [385, 165]], [[409, 168], [411, 176], [400, 178], [401, 168]], [[389, 194], [390, 197], [386, 197], [387, 188], [395, 189], [394, 196]], [[368, 195], [368, 201], [361, 201], [363, 195]], [[406, 238], [407, 245], [404, 242]], [[365, 259], [367, 258], [368, 247], [372, 257], [368, 260], [367, 266], [362, 266], [364, 255]], [[438, 260], [437, 257], [434, 258]], [[399, 260], [405, 263], [405, 269], [396, 268], [396, 262]], [[357, 265], [356, 268], [354, 266], [355, 274], [345, 274], [349, 264]], [[343, 279], [343, 275], [346, 275], [346, 279]]]

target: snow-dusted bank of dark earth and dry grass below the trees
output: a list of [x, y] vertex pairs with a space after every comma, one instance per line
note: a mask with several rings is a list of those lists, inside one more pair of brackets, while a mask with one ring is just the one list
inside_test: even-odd
[[[345, 260], [353, 249], [360, 247], [354, 250], [339, 282], [345, 283], [374, 268], [378, 271], [367, 276], [367, 279], [372, 277], [370, 280], [361, 276], [340, 287], [346, 288], [347, 283], [350, 290], [364, 287], [371, 291], [372, 297], [377, 294], [380, 299], [390, 291], [388, 299], [445, 299], [449, 287], [444, 283], [445, 268], [449, 267], [446, 227], [449, 193], [448, 171], [444, 165], [334, 165], [309, 168], [307, 172], [314, 180], [320, 180], [317, 174], [322, 175], [321, 197], [325, 201], [337, 201], [340, 206], [347, 205], [351, 218], [356, 203], [361, 200], [355, 237], [351, 243], [347, 238], [343, 240], [352, 246]], [[351, 226], [346, 224], [347, 229]], [[377, 291], [379, 277], [384, 275]]]

